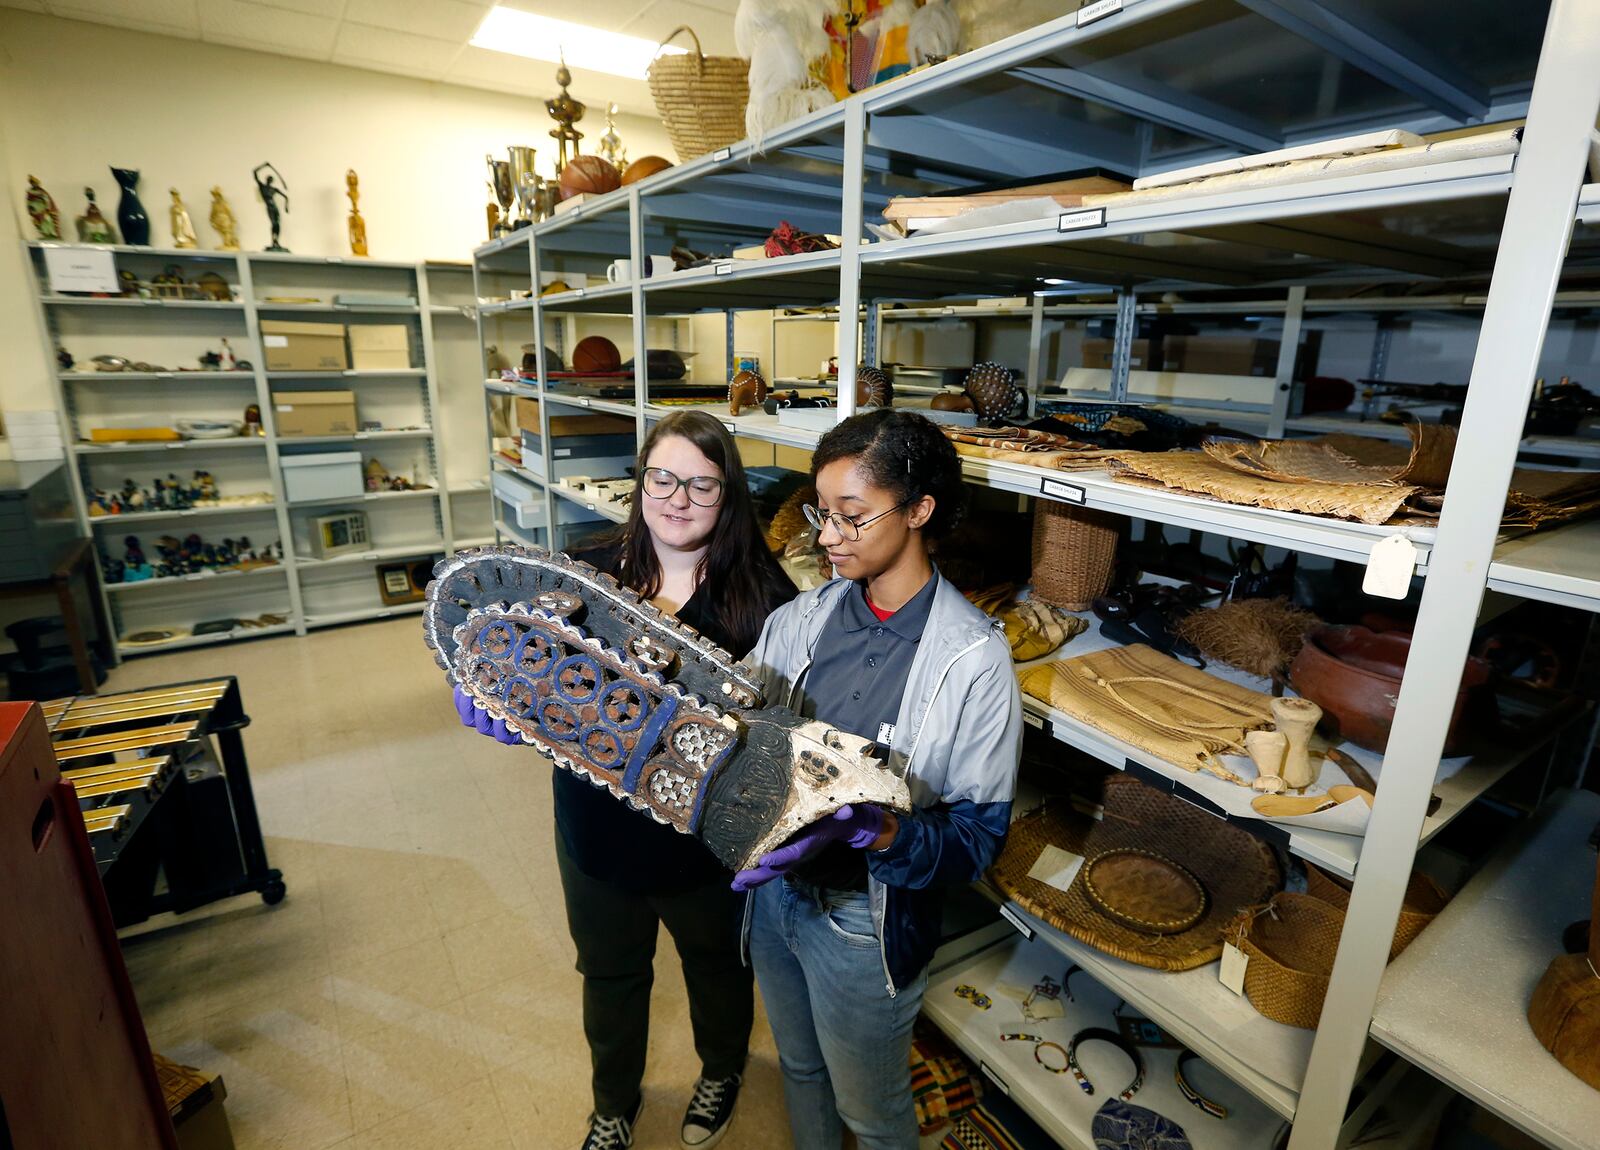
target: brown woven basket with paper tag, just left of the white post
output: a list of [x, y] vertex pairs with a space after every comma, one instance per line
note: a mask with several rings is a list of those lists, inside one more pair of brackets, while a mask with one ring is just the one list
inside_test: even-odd
[[1342, 929], [1344, 912], [1286, 891], [1235, 918], [1227, 937], [1250, 960], [1250, 1004], [1274, 1022], [1315, 1030]]

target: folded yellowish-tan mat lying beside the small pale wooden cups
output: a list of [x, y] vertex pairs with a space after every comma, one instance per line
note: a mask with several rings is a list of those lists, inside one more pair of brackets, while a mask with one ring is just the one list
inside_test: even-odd
[[1272, 699], [1134, 643], [1034, 667], [1022, 691], [1186, 771], [1240, 782], [1218, 758], [1272, 726]]

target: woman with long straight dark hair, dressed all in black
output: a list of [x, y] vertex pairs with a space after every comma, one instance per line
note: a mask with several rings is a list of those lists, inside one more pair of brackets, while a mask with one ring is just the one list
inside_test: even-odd
[[[627, 523], [574, 552], [717, 645], [742, 654], [795, 587], [762, 539], [733, 438], [702, 411], [677, 411], [645, 437]], [[464, 723], [520, 742], [504, 723], [458, 709]], [[701, 1076], [680, 1132], [712, 1147], [739, 1097], [755, 1012], [739, 953], [742, 900], [696, 840], [630, 811], [570, 771], [555, 779], [555, 862], [584, 976], [594, 1113], [584, 1150], [626, 1150], [643, 1107], [658, 926], [683, 963]]]

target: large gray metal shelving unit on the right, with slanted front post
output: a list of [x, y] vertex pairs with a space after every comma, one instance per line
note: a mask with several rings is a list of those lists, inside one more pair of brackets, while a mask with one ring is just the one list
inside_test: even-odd
[[[1494, 1081], [1483, 1080], [1493, 1067], [1462, 1057], [1467, 1040], [1459, 1028], [1405, 1030], [1387, 1004], [1387, 990], [1376, 1022], [1374, 1004], [1381, 985], [1403, 985], [1419, 1016], [1470, 1012], [1459, 993], [1437, 1000], [1450, 993], [1438, 988], [1443, 984], [1435, 987], [1422, 974], [1408, 977], [1413, 953], [1426, 958], [1434, 950], [1427, 945], [1432, 936], [1426, 934], [1386, 980], [1389, 939], [1419, 846], [1534, 753], [1530, 747], [1526, 753], [1483, 757], [1435, 787], [1454, 701], [1453, 670], [1462, 665], [1470, 638], [1467, 621], [1477, 617], [1486, 589], [1600, 608], [1600, 529], [1592, 523], [1518, 539], [1499, 531], [1518, 451], [1589, 457], [1586, 441], [1523, 443], [1520, 429], [1552, 307], [1594, 302], [1566, 293], [1558, 297], [1557, 286], [1563, 274], [1592, 269], [1600, 258], [1595, 234], [1574, 234], [1574, 221], [1600, 222], [1600, 187], [1582, 182], [1600, 110], [1600, 72], [1592, 66], [1600, 56], [1600, 11], [1581, 0], [1515, 11], [1474, 0], [1458, 5], [1448, 22], [1440, 22], [1438, 6], [1426, 0], [1123, 0], [1085, 11], [1090, 16], [1082, 22], [1078, 14], [1062, 16], [814, 112], [771, 133], [760, 149], [736, 144], [485, 245], [474, 267], [480, 297], [509, 296], [510, 288], [536, 289], [562, 274], [594, 275], [622, 256], [640, 267], [648, 254], [670, 245], [730, 251], [758, 242], [779, 219], [840, 235], [838, 251], [723, 259], [626, 285], [491, 304], [480, 310], [480, 325], [514, 320], [538, 345], [558, 337], [571, 313], [626, 315], [635, 345], [643, 345], [646, 323], [661, 317], [830, 307], [840, 352], [837, 416], [846, 417], [854, 406], [856, 352], [875, 361], [875, 333], [883, 307], [893, 302], [910, 304], [907, 313], [946, 313], [960, 307], [950, 302], [957, 299], [1024, 297], [1027, 310], [1006, 304], [990, 305], [989, 313], [1026, 317], [1035, 333], [1046, 309], [1115, 315], [1114, 398], [1120, 398], [1118, 387], [1126, 389], [1128, 342], [1139, 315], [1269, 310], [1282, 315], [1283, 325], [1277, 373], [1264, 381], [1275, 389], [1274, 398], [1253, 413], [1221, 411], [1237, 419], [1253, 414], [1264, 430], [1280, 435], [1325, 430], [1309, 417], [1293, 425], [1288, 409], [1307, 313], [1482, 312], [1458, 454], [1470, 465], [1451, 473], [1437, 528], [1371, 528], [1258, 510], [1118, 485], [1101, 472], [1045, 472], [976, 459], [963, 464], [970, 481], [1002, 491], [1350, 563], [1365, 565], [1373, 545], [1394, 534], [1411, 541], [1413, 573], [1424, 581], [1422, 606], [1366, 837], [1334, 841], [1339, 837], [1294, 832], [1285, 843], [1355, 878], [1315, 1032], [1261, 1019], [1222, 990], [1213, 971], [1158, 974], [1062, 940], [1022, 915], [1014, 921], [1195, 1044], [1269, 1110], [1293, 1118], [1291, 1150], [1333, 1150], [1352, 1132], [1342, 1129], [1346, 1123], [1368, 1112], [1374, 1091], [1398, 1081], [1402, 1075], [1374, 1070], [1373, 1036], [1480, 1100], [1501, 1094], [1496, 1108], [1502, 1116], [1552, 1145], [1566, 1145], [1552, 1136], [1565, 1121], [1549, 1108], [1552, 1102], [1531, 1094], [1506, 1102]], [[902, 240], [864, 230], [869, 214], [896, 194], [1093, 166], [1152, 174], [1368, 128], [1438, 133], [1523, 117], [1520, 146], [1494, 155], [1435, 157], [1405, 170], [1112, 202], [1102, 214], [1090, 216], [1088, 226], [1064, 214]], [[1448, 288], [1443, 297], [1331, 297], [1355, 285], [1440, 278], [1478, 286]], [[1483, 283], [1486, 293], [1472, 294]], [[1042, 302], [1040, 293], [1062, 289], [1094, 289], [1115, 304]], [[1210, 301], [1192, 294], [1214, 291], [1230, 296]], [[1165, 293], [1187, 297], [1168, 302]], [[731, 318], [728, 331], [731, 360]], [[480, 326], [480, 334], [488, 341], [486, 328]], [[1034, 357], [1037, 350], [1035, 334]], [[1037, 358], [1029, 377], [1038, 377]], [[682, 409], [651, 403], [643, 368], [634, 384], [632, 405], [618, 409], [634, 414], [640, 432]], [[485, 395], [494, 392], [560, 401], [542, 368], [526, 385], [490, 382]], [[720, 405], [706, 409], [742, 438], [802, 449], [818, 438], [814, 430], [782, 427], [771, 416], [733, 417]], [[547, 413], [549, 403], [541, 403], [541, 432], [549, 430]], [[549, 483], [541, 488], [544, 521], [550, 523], [552, 504], [563, 494]], [[544, 531], [514, 531], [499, 509], [496, 528], [504, 537], [549, 542]], [[1134, 758], [1066, 717], [1032, 704], [1029, 710], [1030, 723], [1048, 725], [1054, 737], [1114, 766]], [[1429, 816], [1435, 789], [1443, 801]], [[1507, 865], [1520, 889], [1536, 897], [1558, 864], [1525, 851]], [[1586, 873], [1581, 857], [1568, 865]], [[1462, 899], [1462, 915], [1480, 902], [1470, 888]], [[1432, 929], [1443, 928], [1448, 916]], [[1515, 944], [1531, 945], [1522, 936]], [[1542, 945], [1554, 948], [1557, 942], [1552, 937]], [[1539, 953], [1541, 969], [1547, 958], [1547, 952]], [[1501, 990], [1522, 995], [1525, 987]], [[941, 1006], [930, 1012], [938, 1017]], [[1520, 1025], [1509, 1009], [1499, 1022], [1501, 1030]], [[1494, 1052], [1496, 1059], [1518, 1059], [1507, 1080], [1562, 1073], [1542, 1052], [1525, 1049], [1522, 1032], [1517, 1040]], [[1485, 1044], [1478, 1052], [1491, 1049]], [[994, 1051], [979, 1054], [990, 1057]], [[1368, 1072], [1379, 1081], [1368, 1083], [1365, 1102], [1350, 1110], [1352, 1091]], [[1067, 1104], [1026, 1089], [1013, 1097], [1064, 1145], [1083, 1144], [1085, 1129]]]

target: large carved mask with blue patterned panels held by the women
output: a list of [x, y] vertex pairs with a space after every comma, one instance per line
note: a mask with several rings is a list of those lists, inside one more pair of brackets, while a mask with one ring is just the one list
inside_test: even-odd
[[762, 707], [749, 667], [566, 555], [483, 547], [442, 560], [422, 629], [477, 707], [730, 868], [848, 803], [910, 808], [870, 742]]

